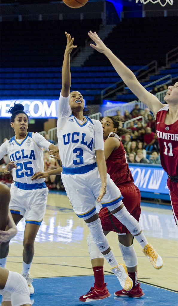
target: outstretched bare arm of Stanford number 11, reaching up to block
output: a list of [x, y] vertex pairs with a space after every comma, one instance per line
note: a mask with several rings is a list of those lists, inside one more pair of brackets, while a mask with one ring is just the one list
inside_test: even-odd
[[116, 72], [122, 78], [123, 82], [130, 88], [134, 95], [136, 95], [138, 99], [142, 101], [142, 103], [149, 107], [149, 109], [153, 112], [154, 117], [156, 118], [156, 114], [158, 110], [163, 107], [163, 104], [157, 99], [157, 97], [155, 97], [155, 95], [147, 91], [138, 82], [134, 73], [129, 68], [127, 68], [127, 66], [124, 65], [123, 62], [121, 62], [108, 47], [105, 46], [96, 32], [93, 33], [92, 31], [89, 31], [88, 35], [96, 43], [96, 45], [91, 43], [90, 46], [98, 52], [106, 55]]

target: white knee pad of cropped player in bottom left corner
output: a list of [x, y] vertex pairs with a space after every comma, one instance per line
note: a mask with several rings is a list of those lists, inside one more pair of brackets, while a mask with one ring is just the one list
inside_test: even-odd
[[31, 304], [28, 284], [21, 274], [9, 271], [4, 290], [11, 293], [12, 306]]

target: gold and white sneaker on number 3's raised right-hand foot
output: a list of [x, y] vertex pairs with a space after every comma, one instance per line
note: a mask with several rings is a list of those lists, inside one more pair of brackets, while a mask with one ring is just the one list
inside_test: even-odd
[[161, 269], [163, 266], [163, 260], [161, 256], [154, 250], [150, 243], [146, 244], [146, 246], [142, 249], [143, 254], [150, 259], [150, 263], [153, 268]]

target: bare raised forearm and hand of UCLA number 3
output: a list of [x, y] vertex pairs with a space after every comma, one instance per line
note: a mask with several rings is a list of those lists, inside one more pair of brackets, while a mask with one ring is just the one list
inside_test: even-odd
[[77, 46], [73, 45], [74, 37], [71, 38], [70, 34], [65, 32], [67, 37], [67, 45], [66, 50], [64, 52], [64, 60], [62, 64], [62, 89], [61, 95], [64, 98], [67, 98], [70, 93], [70, 86], [71, 86], [71, 74], [70, 74], [70, 53], [72, 52], [73, 48]]

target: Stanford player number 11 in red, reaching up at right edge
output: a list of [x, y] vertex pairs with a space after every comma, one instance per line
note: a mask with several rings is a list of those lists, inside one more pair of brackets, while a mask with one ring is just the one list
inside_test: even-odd
[[95, 50], [104, 53], [127, 87], [146, 104], [156, 119], [156, 131], [160, 145], [161, 165], [168, 174], [167, 185], [172, 204], [172, 211], [178, 226], [178, 82], [168, 87], [165, 102], [162, 104], [155, 95], [147, 91], [136, 76], [105, 46], [96, 32], [89, 32], [89, 37], [96, 45]]

